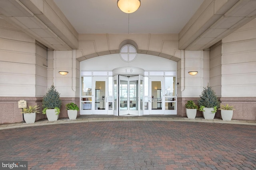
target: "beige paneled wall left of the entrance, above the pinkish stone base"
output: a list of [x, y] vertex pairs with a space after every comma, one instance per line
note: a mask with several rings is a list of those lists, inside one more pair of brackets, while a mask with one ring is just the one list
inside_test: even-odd
[[0, 19], [1, 96], [41, 96], [46, 90], [46, 49]]

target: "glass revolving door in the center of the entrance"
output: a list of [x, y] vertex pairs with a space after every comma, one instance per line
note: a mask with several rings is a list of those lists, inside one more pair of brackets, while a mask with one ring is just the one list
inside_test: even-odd
[[119, 115], [139, 115], [139, 76], [119, 75]]

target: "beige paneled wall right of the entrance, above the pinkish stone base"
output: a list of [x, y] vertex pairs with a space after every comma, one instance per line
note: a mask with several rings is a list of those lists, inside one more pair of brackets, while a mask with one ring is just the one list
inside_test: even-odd
[[256, 97], [256, 19], [222, 40], [222, 97]]

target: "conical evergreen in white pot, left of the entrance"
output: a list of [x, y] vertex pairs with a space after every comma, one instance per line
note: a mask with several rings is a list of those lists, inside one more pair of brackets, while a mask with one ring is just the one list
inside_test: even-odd
[[42, 99], [42, 108], [44, 108], [42, 113], [46, 114], [48, 121], [58, 120], [61, 104], [60, 93], [56, 91], [55, 86], [52, 84]]

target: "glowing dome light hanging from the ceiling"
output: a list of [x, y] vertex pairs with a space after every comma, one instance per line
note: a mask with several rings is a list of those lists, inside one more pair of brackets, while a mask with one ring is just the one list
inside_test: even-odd
[[140, 0], [118, 0], [118, 8], [125, 13], [132, 13], [140, 8]]

